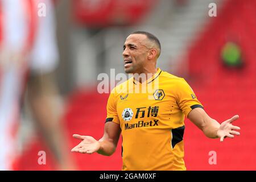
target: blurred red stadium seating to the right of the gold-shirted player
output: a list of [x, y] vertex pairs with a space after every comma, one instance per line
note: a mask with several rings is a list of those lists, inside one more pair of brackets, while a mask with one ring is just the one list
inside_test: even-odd
[[[189, 51], [191, 86], [210, 116], [222, 122], [239, 114], [234, 125], [241, 136], [224, 143], [204, 137], [190, 121], [186, 122], [185, 161], [188, 170], [255, 170], [256, 138], [256, 2], [233, 0]], [[227, 69], [220, 60], [226, 40], [237, 38], [245, 67]], [[196, 82], [195, 82], [196, 81]], [[217, 152], [217, 164], [210, 165], [209, 151]]]

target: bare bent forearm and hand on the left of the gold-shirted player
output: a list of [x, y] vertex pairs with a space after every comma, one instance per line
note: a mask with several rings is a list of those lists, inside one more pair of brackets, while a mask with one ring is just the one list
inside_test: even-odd
[[73, 135], [74, 138], [81, 139], [82, 142], [72, 148], [71, 151], [83, 154], [93, 154], [97, 152], [102, 155], [112, 155], [117, 147], [120, 133], [121, 129], [117, 123], [106, 122], [104, 135], [100, 140], [96, 140], [90, 136]]

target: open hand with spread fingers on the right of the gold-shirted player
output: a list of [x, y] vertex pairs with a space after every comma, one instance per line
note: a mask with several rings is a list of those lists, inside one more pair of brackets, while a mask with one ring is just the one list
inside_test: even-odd
[[239, 118], [239, 115], [234, 115], [231, 119], [228, 119], [221, 123], [220, 129], [217, 131], [217, 135], [220, 138], [220, 141], [223, 142], [224, 138], [234, 138], [234, 135], [240, 135], [238, 131], [234, 130], [240, 130], [240, 127], [233, 126], [232, 122], [237, 120]]

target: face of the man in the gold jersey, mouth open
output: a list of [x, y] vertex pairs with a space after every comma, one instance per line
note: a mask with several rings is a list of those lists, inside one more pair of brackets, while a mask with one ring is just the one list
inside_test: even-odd
[[148, 49], [145, 46], [146, 35], [132, 34], [123, 45], [123, 61], [126, 73], [143, 73], [147, 63]]

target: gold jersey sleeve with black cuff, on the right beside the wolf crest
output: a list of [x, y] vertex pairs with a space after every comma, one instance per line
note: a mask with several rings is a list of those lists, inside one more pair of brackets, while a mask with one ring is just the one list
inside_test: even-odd
[[203, 108], [203, 105], [197, 100], [191, 86], [182, 79], [177, 84], [177, 104], [179, 105], [185, 117], [188, 117], [189, 112], [196, 107]]

